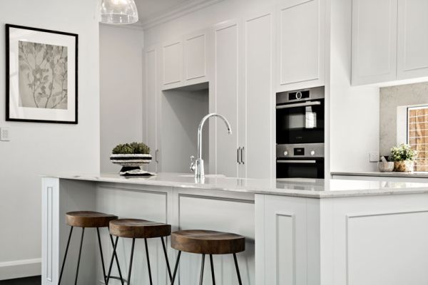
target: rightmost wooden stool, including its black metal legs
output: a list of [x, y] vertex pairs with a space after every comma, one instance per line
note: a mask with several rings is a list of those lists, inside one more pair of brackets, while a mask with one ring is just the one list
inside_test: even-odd
[[175, 281], [175, 275], [177, 274], [178, 262], [180, 261], [181, 252], [202, 254], [202, 265], [200, 267], [199, 280], [200, 285], [202, 285], [203, 282], [203, 267], [205, 265], [205, 254], [210, 254], [211, 276], [213, 278], [213, 285], [215, 285], [213, 254], [233, 254], [236, 274], [238, 275], [238, 282], [240, 285], [242, 285], [236, 254], [245, 250], [245, 237], [242, 237], [238, 234], [205, 231], [201, 229], [178, 231], [173, 232], [171, 234], [171, 247], [173, 247], [173, 249], [178, 250], [178, 256], [177, 261], [175, 261], [175, 268], [171, 285], [173, 285]]

